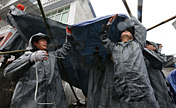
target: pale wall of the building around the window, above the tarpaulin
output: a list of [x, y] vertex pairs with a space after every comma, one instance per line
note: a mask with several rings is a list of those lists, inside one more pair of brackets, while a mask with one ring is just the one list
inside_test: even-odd
[[67, 23], [69, 25], [80, 23], [95, 17], [87, 0], [70, 0], [67, 3], [62, 3], [62, 5], [57, 5], [61, 3], [62, 1], [52, 4], [51, 6], [44, 7], [45, 13], [47, 14], [70, 5]]

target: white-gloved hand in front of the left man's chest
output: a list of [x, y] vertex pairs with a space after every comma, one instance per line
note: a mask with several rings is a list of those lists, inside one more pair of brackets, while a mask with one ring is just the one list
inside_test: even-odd
[[42, 61], [42, 60], [46, 60], [47, 59], [47, 52], [44, 50], [38, 50], [35, 51], [31, 57], [30, 57], [30, 61], [31, 62], [36, 62], [36, 61]]

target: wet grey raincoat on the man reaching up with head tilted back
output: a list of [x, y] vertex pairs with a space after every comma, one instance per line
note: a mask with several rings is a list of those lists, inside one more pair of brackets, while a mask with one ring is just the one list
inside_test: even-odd
[[101, 34], [100, 40], [112, 55], [114, 78], [111, 108], [159, 108], [150, 84], [142, 50], [146, 42], [146, 28], [134, 17], [134, 40], [114, 43]]

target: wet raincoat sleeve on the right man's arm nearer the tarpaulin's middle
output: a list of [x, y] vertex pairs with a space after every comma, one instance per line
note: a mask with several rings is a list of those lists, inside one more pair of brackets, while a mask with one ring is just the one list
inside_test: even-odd
[[100, 38], [102, 45], [105, 47], [105, 49], [108, 51], [108, 53], [112, 54], [115, 43], [111, 42], [111, 40], [108, 38], [108, 34], [101, 33], [99, 35], [99, 38]]

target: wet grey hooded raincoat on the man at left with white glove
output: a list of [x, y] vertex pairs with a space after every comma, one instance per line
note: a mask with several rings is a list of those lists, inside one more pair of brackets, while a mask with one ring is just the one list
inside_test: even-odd
[[[37, 50], [29, 40], [29, 49]], [[69, 40], [69, 39], [68, 39]], [[56, 51], [48, 51], [47, 60], [30, 62], [31, 51], [12, 62], [4, 70], [5, 77], [16, 80], [11, 108], [68, 108], [58, 68], [58, 59], [64, 57], [71, 48], [69, 41]], [[37, 102], [52, 104], [37, 104], [34, 101], [36, 89], [36, 68], [38, 73]]]

